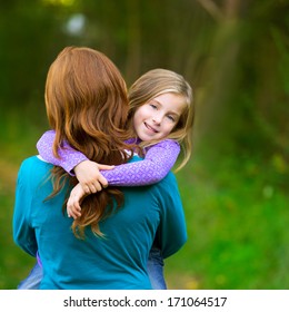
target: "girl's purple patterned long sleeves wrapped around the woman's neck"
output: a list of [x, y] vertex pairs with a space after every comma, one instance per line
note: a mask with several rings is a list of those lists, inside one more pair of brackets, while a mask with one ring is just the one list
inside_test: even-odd
[[[46, 131], [37, 143], [38, 152], [48, 163], [60, 166], [73, 175], [73, 168], [88, 158], [82, 153], [72, 149], [66, 142], [63, 148], [58, 149], [60, 158], [56, 158], [52, 153], [54, 137], [54, 130]], [[111, 170], [101, 170], [109, 185], [141, 186], [161, 181], [173, 167], [180, 153], [180, 145], [172, 139], [165, 139], [149, 146], [146, 150], [142, 162], [118, 165]]]

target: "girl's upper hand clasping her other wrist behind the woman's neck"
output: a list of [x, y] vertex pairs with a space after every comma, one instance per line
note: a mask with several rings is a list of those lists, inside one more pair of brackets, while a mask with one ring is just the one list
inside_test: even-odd
[[103, 187], [108, 186], [108, 181], [99, 170], [110, 170], [113, 167], [84, 160], [74, 167], [74, 173], [86, 194], [91, 194], [100, 192]]

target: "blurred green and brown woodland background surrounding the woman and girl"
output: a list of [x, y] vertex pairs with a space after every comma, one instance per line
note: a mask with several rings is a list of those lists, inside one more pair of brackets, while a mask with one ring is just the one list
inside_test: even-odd
[[193, 87], [192, 158], [177, 174], [189, 241], [168, 286], [288, 289], [288, 12], [287, 0], [1, 0], [0, 289], [33, 265], [11, 235], [16, 176], [48, 129], [48, 67], [71, 45], [104, 52], [128, 85], [162, 67]]

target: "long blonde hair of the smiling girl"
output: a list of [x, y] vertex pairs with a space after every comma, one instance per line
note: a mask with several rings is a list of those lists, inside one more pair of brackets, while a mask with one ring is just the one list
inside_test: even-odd
[[[177, 140], [182, 148], [183, 157], [178, 167], [176, 168], [177, 172], [181, 169], [190, 158], [192, 144], [191, 136], [195, 118], [192, 89], [191, 86], [185, 80], [185, 78], [181, 75], [161, 68], [150, 70], [142, 75], [129, 89], [129, 126], [132, 127], [133, 115], [140, 106], [167, 92], [172, 92], [182, 96], [183, 101], [187, 104], [187, 107], [181, 114], [178, 124], [176, 125], [173, 130], [168, 135], [168, 137], [166, 137]], [[157, 144], [160, 140], [142, 142], [141, 145], [142, 147], [148, 147], [153, 144]]]

